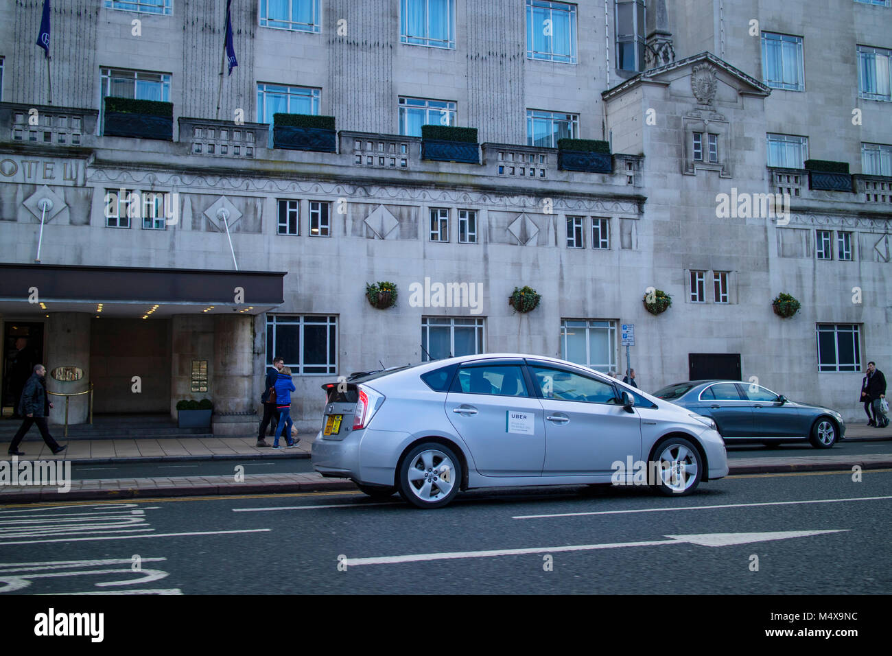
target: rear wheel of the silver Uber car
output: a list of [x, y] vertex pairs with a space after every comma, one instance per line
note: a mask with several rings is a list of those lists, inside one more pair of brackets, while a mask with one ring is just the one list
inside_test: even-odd
[[448, 446], [418, 444], [402, 461], [400, 495], [418, 508], [442, 508], [458, 494], [461, 461]]

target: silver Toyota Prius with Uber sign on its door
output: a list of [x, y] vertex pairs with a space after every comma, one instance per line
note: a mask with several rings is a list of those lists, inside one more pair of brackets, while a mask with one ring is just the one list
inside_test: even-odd
[[572, 362], [485, 354], [323, 386], [313, 468], [439, 508], [475, 487], [648, 485], [728, 474], [713, 419]]

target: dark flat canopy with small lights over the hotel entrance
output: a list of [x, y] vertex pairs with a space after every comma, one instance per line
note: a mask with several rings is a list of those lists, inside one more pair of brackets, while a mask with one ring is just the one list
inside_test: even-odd
[[103, 317], [260, 314], [284, 303], [286, 271], [0, 263], [0, 313]]

